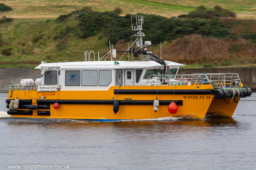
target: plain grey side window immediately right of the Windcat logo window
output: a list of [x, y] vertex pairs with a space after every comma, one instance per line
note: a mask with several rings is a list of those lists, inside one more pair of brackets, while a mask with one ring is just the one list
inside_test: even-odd
[[97, 86], [97, 85], [98, 85], [97, 70], [82, 71], [82, 86]]

